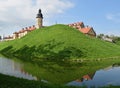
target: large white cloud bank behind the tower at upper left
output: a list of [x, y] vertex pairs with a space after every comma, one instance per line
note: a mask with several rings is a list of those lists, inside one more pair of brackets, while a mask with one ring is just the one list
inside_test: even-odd
[[42, 9], [46, 25], [49, 24], [47, 19], [64, 13], [73, 6], [69, 0], [0, 0], [0, 33], [18, 26], [35, 24], [39, 8]]

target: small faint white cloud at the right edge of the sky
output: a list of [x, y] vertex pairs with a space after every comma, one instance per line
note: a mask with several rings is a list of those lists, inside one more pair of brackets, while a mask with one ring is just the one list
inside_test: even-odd
[[117, 14], [108, 14], [106, 16], [106, 18], [108, 20], [111, 20], [113, 22], [117, 22], [117, 23], [120, 23], [120, 13], [117, 13]]

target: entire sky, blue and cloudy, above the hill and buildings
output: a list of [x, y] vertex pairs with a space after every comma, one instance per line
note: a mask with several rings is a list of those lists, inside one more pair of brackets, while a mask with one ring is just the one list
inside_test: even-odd
[[120, 36], [120, 0], [0, 0], [0, 35], [36, 24], [41, 9], [44, 26], [84, 22], [97, 34]]

